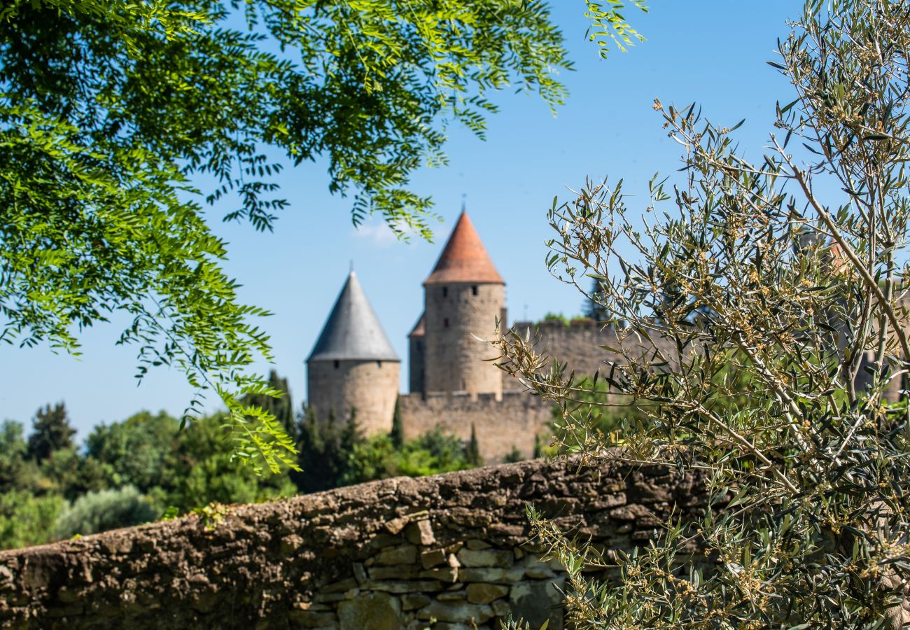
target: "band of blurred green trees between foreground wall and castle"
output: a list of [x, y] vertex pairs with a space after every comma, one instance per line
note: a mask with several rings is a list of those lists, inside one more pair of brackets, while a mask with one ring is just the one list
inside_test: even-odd
[[22, 425], [0, 424], [0, 549], [41, 544], [185, 514], [210, 503], [258, 503], [298, 492], [399, 475], [470, 468], [461, 441], [440, 429], [396, 446], [390, 435], [366, 438], [356, 414], [316, 422], [300, 414], [303, 473], [257, 474], [232, 457], [223, 413], [179, 430], [165, 412], [139, 412], [100, 424], [84, 448], [27, 458]]

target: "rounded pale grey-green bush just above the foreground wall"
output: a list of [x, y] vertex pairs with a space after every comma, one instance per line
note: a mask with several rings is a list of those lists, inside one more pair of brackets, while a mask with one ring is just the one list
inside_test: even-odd
[[86, 493], [67, 506], [56, 519], [54, 536], [70, 538], [76, 533], [104, 532], [154, 521], [158, 514], [131, 485]]

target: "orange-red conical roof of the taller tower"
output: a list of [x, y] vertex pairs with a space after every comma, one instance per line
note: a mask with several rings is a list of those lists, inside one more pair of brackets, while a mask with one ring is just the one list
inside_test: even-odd
[[449, 242], [442, 250], [430, 278], [426, 279], [423, 284], [447, 282], [505, 284], [493, 266], [490, 254], [480, 242], [480, 237], [471, 224], [468, 213], [464, 210], [461, 210], [458, 223], [455, 224]]

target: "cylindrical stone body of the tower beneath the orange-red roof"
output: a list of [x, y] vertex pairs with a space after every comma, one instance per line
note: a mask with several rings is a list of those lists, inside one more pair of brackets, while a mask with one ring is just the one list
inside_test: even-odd
[[[430, 284], [425, 288], [424, 391], [500, 394], [502, 372], [488, 343], [505, 309], [501, 284]], [[475, 294], [476, 293], [476, 294]]]

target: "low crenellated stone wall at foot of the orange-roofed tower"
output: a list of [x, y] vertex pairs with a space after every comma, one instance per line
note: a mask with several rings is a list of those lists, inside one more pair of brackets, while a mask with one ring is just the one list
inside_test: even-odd
[[[507, 377], [508, 378], [508, 377]], [[405, 394], [399, 398], [401, 424], [406, 440], [412, 440], [440, 425], [462, 440], [470, 439], [473, 424], [480, 457], [484, 462], [501, 462], [512, 448], [525, 458], [533, 456], [534, 436], [550, 442], [552, 403], [541, 401], [527, 391], [501, 395], [464, 392]]]

